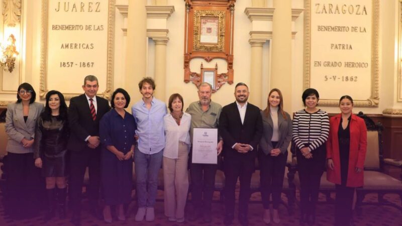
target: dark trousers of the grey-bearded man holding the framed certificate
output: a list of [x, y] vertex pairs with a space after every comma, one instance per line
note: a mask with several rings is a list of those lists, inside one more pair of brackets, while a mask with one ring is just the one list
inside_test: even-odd
[[[191, 201], [195, 208], [211, 210], [217, 164], [191, 163]], [[204, 193], [204, 199], [203, 199]]]

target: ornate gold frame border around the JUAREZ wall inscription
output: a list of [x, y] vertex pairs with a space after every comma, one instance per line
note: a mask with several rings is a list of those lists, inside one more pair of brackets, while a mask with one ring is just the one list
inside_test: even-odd
[[[113, 92], [113, 64], [114, 64], [114, 33], [115, 33], [115, 3], [116, 0], [108, 0], [108, 54], [107, 54], [107, 78], [106, 89], [100, 96], [110, 99]], [[44, 99], [47, 89], [47, 28], [48, 28], [49, 0], [42, 0], [41, 23], [41, 60], [40, 60], [40, 84], [39, 96]], [[66, 100], [81, 93], [63, 93]]]

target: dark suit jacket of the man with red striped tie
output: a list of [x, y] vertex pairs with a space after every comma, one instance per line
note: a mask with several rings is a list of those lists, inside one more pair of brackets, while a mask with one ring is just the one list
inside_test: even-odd
[[68, 107], [68, 123], [70, 138], [67, 148], [71, 151], [81, 151], [86, 147], [88, 136], [99, 136], [99, 121], [110, 110], [107, 99], [96, 96], [96, 120], [92, 120], [89, 103], [85, 94], [72, 97]]

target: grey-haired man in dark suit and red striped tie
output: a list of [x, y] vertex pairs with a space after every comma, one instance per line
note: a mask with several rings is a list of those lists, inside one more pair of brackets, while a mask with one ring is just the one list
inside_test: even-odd
[[100, 185], [100, 141], [99, 121], [109, 111], [108, 100], [96, 96], [99, 84], [97, 78], [88, 75], [84, 78], [82, 89], [84, 94], [70, 99], [68, 123], [70, 138], [70, 181], [69, 194], [73, 215], [71, 222], [80, 225], [81, 190], [85, 169], [89, 169], [89, 186], [86, 192], [89, 197], [91, 213], [102, 216], [98, 209]]

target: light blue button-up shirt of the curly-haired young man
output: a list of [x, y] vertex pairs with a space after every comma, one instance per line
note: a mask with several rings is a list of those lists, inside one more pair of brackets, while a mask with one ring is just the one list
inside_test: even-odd
[[148, 110], [141, 99], [131, 110], [137, 123], [138, 150], [148, 155], [162, 151], [165, 148], [163, 117], [167, 114], [166, 104], [153, 97]]

